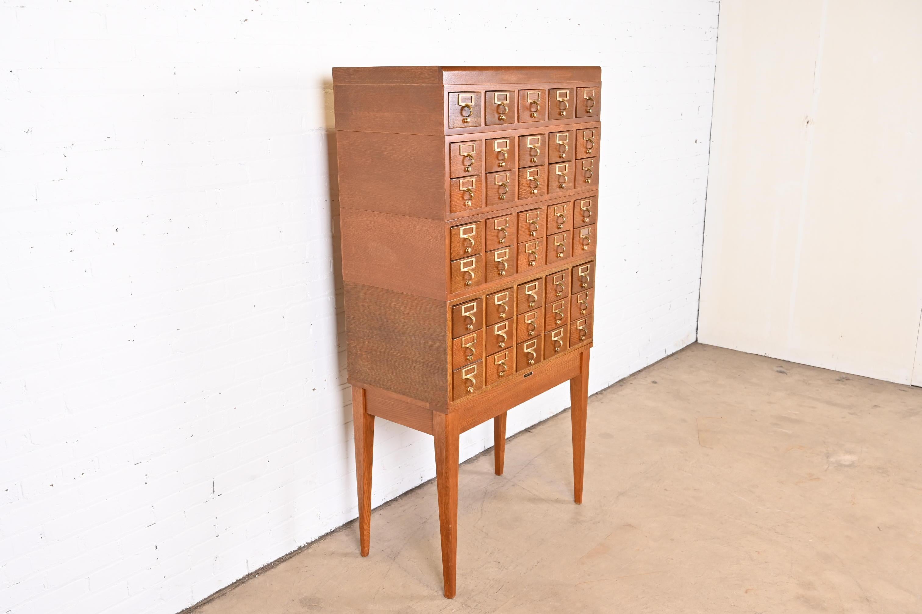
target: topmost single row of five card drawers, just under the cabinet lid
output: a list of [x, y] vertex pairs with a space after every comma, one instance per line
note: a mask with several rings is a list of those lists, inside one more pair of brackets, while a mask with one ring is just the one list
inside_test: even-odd
[[601, 87], [449, 92], [448, 127], [476, 128], [597, 118]]

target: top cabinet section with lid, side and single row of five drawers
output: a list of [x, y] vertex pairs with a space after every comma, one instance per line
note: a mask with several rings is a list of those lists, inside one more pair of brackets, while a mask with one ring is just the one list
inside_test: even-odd
[[336, 127], [449, 135], [593, 121], [601, 75], [597, 66], [334, 68]]

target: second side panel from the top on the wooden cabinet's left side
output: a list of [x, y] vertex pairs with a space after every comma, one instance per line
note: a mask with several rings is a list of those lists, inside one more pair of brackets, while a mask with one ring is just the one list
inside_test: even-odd
[[444, 139], [337, 131], [339, 206], [443, 220]]

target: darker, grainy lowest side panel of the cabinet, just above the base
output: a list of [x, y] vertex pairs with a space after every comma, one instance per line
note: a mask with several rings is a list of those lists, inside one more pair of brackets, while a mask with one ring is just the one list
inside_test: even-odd
[[445, 302], [345, 282], [349, 382], [448, 402]]

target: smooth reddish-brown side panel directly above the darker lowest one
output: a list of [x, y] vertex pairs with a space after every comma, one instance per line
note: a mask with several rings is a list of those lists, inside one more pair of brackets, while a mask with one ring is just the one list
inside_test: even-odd
[[343, 281], [444, 300], [445, 225], [420, 217], [340, 209]]

